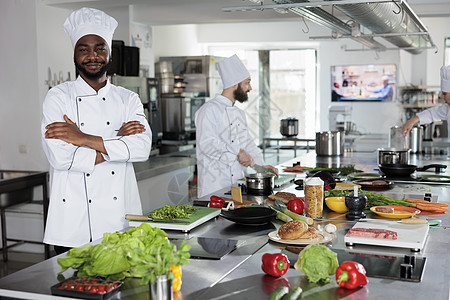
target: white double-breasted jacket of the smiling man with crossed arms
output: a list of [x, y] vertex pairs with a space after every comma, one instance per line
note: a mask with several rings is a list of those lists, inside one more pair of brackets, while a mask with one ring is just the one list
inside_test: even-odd
[[[67, 115], [84, 133], [100, 136], [108, 155], [95, 165], [96, 150], [45, 139], [45, 126]], [[139, 121], [146, 131], [117, 136], [122, 124]], [[142, 214], [132, 162], [145, 161], [152, 133], [139, 96], [109, 80], [98, 93], [81, 77], [49, 90], [41, 124], [50, 163], [50, 205], [44, 242], [79, 247], [128, 226], [125, 214]]]

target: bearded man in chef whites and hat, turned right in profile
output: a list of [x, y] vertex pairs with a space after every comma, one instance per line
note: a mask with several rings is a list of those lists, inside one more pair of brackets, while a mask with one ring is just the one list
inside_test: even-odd
[[[248, 100], [250, 73], [233, 55], [220, 61], [221, 95], [203, 104], [195, 114], [198, 197], [230, 187], [243, 177], [243, 168], [264, 165], [260, 149], [247, 128], [243, 110], [235, 102]], [[272, 166], [266, 166], [278, 173]]]

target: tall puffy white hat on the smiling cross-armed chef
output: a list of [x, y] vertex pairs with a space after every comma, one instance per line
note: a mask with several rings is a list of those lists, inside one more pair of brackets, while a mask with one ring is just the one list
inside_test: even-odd
[[70, 37], [74, 48], [80, 38], [88, 34], [95, 34], [105, 40], [111, 52], [112, 37], [117, 24], [113, 17], [103, 11], [83, 7], [67, 17], [64, 22], [64, 31]]

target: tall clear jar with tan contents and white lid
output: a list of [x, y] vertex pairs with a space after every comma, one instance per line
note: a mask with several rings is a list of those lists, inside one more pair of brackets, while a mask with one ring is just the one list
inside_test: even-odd
[[311, 177], [305, 183], [306, 215], [317, 219], [322, 217], [323, 212], [323, 185], [319, 177]]

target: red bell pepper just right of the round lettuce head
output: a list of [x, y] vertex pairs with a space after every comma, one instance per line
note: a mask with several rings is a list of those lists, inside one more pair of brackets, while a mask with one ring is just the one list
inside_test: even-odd
[[364, 266], [355, 261], [345, 261], [336, 269], [336, 282], [340, 287], [353, 290], [369, 283]]

